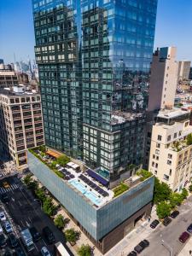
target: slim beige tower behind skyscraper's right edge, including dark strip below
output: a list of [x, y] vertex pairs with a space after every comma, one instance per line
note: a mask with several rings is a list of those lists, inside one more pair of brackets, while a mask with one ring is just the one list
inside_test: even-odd
[[148, 90], [147, 124], [145, 126], [145, 146], [143, 167], [148, 169], [151, 133], [154, 118], [160, 109], [173, 108], [177, 89], [176, 48], [164, 47], [154, 51]]

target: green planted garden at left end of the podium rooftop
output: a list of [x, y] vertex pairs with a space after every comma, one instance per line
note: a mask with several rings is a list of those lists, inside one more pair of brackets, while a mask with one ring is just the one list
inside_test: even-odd
[[45, 146], [39, 146], [37, 148], [30, 148], [29, 152], [34, 154], [39, 160], [41, 160], [46, 166], [49, 167], [58, 177], [65, 178], [65, 175], [57, 170], [58, 166], [64, 167], [70, 161], [70, 158], [66, 154], [61, 154], [57, 158], [49, 156], [48, 150]]

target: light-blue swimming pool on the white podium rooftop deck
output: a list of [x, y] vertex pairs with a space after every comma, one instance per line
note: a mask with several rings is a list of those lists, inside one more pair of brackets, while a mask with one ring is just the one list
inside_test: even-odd
[[90, 189], [86, 188], [83, 183], [80, 183], [78, 180], [73, 179], [68, 181], [78, 189], [84, 196], [90, 199], [96, 206], [99, 206], [102, 203], [102, 199], [98, 197], [93, 191], [90, 191]]

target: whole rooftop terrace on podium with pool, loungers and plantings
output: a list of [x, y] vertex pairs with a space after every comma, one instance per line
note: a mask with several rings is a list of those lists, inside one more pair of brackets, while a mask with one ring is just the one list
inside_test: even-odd
[[78, 193], [96, 207], [102, 207], [108, 201], [112, 201], [113, 198], [143, 181], [143, 173], [137, 172], [136, 176], [130, 177], [123, 183], [119, 183], [116, 188], [110, 189], [108, 180], [90, 169], [81, 171], [80, 166], [70, 161], [65, 154], [56, 153], [55, 150], [51, 151], [51, 149], [47, 150], [44, 146], [31, 148], [29, 151], [55, 172], [57, 176], [61, 177], [63, 182], [76, 189]]

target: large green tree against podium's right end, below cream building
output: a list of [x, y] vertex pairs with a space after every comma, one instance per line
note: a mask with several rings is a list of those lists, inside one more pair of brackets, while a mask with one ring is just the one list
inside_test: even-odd
[[160, 183], [159, 178], [154, 177], [154, 203], [168, 201], [172, 195], [172, 189], [166, 183]]

